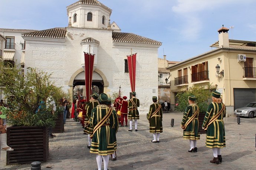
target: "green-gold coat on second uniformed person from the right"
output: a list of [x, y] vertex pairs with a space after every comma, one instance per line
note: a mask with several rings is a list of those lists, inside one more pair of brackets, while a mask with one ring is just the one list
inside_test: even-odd
[[186, 129], [184, 129], [183, 131], [184, 139], [191, 139], [191, 140], [200, 139], [198, 115], [199, 115], [199, 110], [196, 104], [193, 103], [186, 107], [185, 112], [183, 114], [183, 119], [181, 122], [181, 126], [186, 125]]

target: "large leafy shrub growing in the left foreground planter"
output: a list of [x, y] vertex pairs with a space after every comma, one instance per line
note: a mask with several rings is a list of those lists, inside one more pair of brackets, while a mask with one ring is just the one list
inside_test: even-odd
[[[0, 62], [0, 86], [7, 98], [7, 120], [14, 126], [54, 126], [54, 118], [47, 99], [57, 104], [64, 92], [50, 81], [50, 74], [36, 68], [27, 68], [22, 75], [19, 65]], [[42, 101], [45, 102], [42, 105]], [[42, 106], [38, 110], [39, 106]], [[59, 107], [57, 107], [59, 109]], [[60, 110], [57, 110], [57, 113]]]

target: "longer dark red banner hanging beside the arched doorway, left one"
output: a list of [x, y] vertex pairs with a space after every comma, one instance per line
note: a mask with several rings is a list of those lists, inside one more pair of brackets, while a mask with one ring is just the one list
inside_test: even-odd
[[86, 101], [90, 100], [92, 88], [92, 69], [94, 62], [94, 54], [85, 53], [85, 91]]

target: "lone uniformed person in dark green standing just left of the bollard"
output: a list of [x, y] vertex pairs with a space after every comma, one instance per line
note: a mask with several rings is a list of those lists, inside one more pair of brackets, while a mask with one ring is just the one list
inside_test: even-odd
[[151, 142], [159, 143], [160, 133], [163, 132], [163, 112], [162, 106], [157, 102], [157, 96], [152, 97], [154, 102], [150, 105], [150, 110], [147, 114], [148, 122], [150, 123], [150, 133], [153, 133], [154, 139]]

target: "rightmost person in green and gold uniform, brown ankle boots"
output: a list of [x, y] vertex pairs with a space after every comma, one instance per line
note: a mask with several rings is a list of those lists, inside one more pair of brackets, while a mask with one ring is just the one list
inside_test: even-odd
[[222, 103], [220, 93], [211, 93], [212, 101], [204, 116], [203, 129], [206, 129], [206, 147], [213, 149], [213, 160], [210, 163], [222, 162], [220, 149], [226, 147], [223, 118], [226, 116], [226, 106]]

